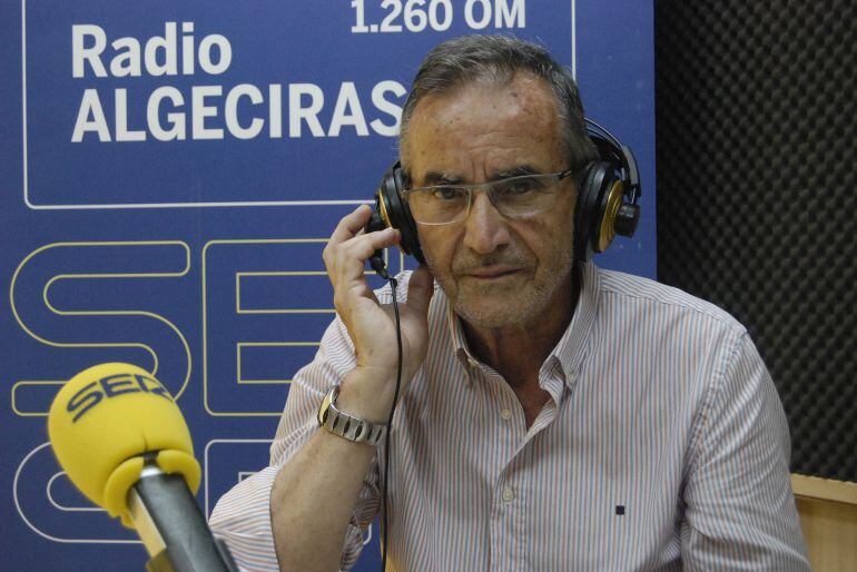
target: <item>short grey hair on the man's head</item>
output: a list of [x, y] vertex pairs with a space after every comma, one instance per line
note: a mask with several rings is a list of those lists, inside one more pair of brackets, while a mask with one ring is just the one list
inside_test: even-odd
[[423, 60], [402, 108], [400, 155], [405, 161], [407, 129], [416, 105], [424, 97], [449, 92], [477, 81], [506, 85], [518, 71], [544, 79], [556, 98], [558, 127], [569, 165], [575, 170], [598, 159], [587, 136], [583, 105], [571, 72], [548, 50], [509, 36], [464, 36], [434, 48]]

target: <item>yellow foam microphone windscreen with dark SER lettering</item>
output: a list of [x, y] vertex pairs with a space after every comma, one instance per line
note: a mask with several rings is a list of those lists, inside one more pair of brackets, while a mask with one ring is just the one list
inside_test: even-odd
[[[51, 404], [48, 434], [60, 465], [75, 486], [112, 514], [125, 501], [106, 506], [111, 503], [105, 497], [105, 487], [117, 467], [127, 465], [128, 460], [165, 452], [190, 460], [198, 472], [190, 432], [181, 412], [166, 387], [135, 365], [101, 364], [69, 379]], [[141, 466], [140, 461], [135, 469], [137, 474], [122, 480], [136, 480]], [[122, 495], [125, 492], [127, 487]]]

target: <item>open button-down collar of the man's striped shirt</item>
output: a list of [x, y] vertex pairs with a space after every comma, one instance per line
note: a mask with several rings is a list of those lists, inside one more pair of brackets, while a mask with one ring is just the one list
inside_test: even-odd
[[[562, 373], [565, 376], [565, 385], [569, 388], [573, 388], [577, 383], [578, 368], [583, 361], [583, 356], [589, 351], [590, 332], [595, 320], [595, 308], [598, 307], [600, 290], [598, 268], [592, 263], [580, 263], [577, 266], [580, 268], [580, 293], [578, 294], [574, 315], [556, 346], [551, 352], [551, 355], [545, 361], [545, 364], [553, 359], [559, 361]], [[446, 315], [455, 357], [470, 372], [479, 365], [479, 361], [471, 354], [467, 347], [464, 328], [461, 325], [461, 318], [455, 314], [452, 300], [447, 302]], [[470, 376], [467, 376], [469, 382], [470, 379]]]

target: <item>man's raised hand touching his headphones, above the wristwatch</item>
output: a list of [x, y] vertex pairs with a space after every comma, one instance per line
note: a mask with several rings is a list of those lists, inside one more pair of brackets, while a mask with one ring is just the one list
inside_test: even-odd
[[[357, 367], [345, 376], [337, 400], [341, 410], [374, 422], [386, 422], [393, 405], [398, 349], [392, 306], [382, 306], [366, 283], [366, 260], [381, 248], [398, 244], [401, 234], [386, 228], [362, 233], [372, 210], [362, 205], [336, 226], [324, 249], [334, 289], [334, 306], [354, 343]], [[420, 266], [411, 276], [407, 303], [400, 305], [402, 324], [402, 392], [425, 359], [428, 346], [428, 303], [432, 275]]]

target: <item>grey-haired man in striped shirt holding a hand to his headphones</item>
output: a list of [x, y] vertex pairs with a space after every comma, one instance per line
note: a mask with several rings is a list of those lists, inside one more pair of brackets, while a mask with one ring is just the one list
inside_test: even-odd
[[[394, 570], [808, 570], [788, 428], [746, 329], [575, 257], [595, 158], [574, 81], [543, 49], [467, 37], [427, 56], [402, 117], [426, 265], [398, 277], [391, 451], [374, 437], [396, 324], [364, 265], [402, 235], [363, 231], [364, 206], [325, 249], [337, 317], [292, 383], [270, 466], [211, 517], [243, 566], [351, 568], [388, 454]], [[528, 208], [516, 194], [534, 194]], [[373, 444], [319, 427], [332, 405]]]

